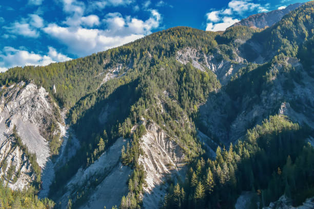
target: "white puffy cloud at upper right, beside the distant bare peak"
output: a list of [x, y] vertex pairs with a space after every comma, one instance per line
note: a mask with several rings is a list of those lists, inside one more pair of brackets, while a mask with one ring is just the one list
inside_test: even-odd
[[232, 0], [226, 9], [211, 11], [206, 14], [206, 30], [224, 31], [240, 20], [235, 16], [243, 16], [248, 11], [267, 12], [269, 4], [264, 6], [250, 2], [251, 0]]

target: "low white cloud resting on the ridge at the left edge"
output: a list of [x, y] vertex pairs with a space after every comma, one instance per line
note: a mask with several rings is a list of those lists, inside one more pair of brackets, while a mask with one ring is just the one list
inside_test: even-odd
[[15, 49], [13, 47], [4, 47], [0, 53], [0, 71], [5, 71], [8, 68], [15, 66], [46, 66], [52, 62], [66, 61], [71, 58], [58, 53], [53, 47], [48, 47], [47, 55], [36, 54], [27, 50]]

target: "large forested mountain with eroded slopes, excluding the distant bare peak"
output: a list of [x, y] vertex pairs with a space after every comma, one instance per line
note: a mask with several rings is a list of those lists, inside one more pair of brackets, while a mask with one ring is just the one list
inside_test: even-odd
[[307, 204], [313, 8], [266, 29], [175, 27], [1, 73], [0, 206]]

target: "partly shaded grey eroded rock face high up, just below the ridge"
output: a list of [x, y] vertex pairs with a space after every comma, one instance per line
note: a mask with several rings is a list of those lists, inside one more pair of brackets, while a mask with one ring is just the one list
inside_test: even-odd
[[240, 68], [246, 66], [246, 60], [233, 51], [234, 58], [232, 60], [223, 58], [219, 49], [213, 54], [205, 54], [201, 50], [193, 48], [185, 48], [176, 53], [176, 60], [186, 65], [191, 62], [194, 68], [201, 71], [211, 70], [217, 75], [222, 85], [225, 85], [234, 73]]

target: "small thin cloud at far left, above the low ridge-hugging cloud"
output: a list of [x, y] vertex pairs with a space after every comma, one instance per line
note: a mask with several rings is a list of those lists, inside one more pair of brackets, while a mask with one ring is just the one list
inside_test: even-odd
[[7, 27], [4, 26], [4, 29], [6, 29], [9, 33], [23, 35], [26, 37], [32, 37], [36, 38], [39, 36], [39, 33], [36, 29], [32, 28], [30, 24], [28, 23], [18, 23], [15, 22], [11, 24], [11, 26]]

